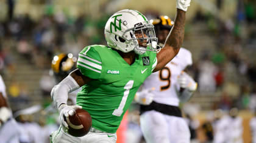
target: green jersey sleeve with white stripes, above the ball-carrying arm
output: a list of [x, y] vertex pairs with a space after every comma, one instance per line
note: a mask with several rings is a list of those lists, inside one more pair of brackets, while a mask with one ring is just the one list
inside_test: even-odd
[[102, 70], [99, 53], [93, 47], [85, 47], [79, 53], [77, 68], [79, 68], [82, 75], [91, 79], [99, 79]]

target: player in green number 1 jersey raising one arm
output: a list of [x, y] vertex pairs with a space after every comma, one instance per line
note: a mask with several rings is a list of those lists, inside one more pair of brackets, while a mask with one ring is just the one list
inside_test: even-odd
[[[136, 10], [120, 10], [105, 25], [106, 45], [90, 45], [79, 53], [77, 69], [52, 88], [61, 126], [52, 142], [116, 142], [116, 130], [135, 93], [152, 72], [163, 68], [183, 42], [185, 13], [190, 0], [176, 0], [174, 27], [159, 52], [154, 25]], [[66, 105], [68, 93], [82, 86], [76, 105]], [[92, 118], [90, 132], [82, 137], [66, 133], [63, 118], [84, 108]]]

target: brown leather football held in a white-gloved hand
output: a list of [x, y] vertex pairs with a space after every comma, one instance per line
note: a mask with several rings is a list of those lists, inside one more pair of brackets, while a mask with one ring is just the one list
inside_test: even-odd
[[65, 118], [68, 123], [68, 133], [80, 137], [87, 135], [91, 128], [91, 115], [84, 109], [77, 109], [76, 114]]

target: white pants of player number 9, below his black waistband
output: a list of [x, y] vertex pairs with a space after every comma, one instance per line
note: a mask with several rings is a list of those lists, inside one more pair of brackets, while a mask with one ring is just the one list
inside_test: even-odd
[[152, 110], [140, 116], [140, 125], [147, 143], [190, 142], [190, 129], [183, 118]]

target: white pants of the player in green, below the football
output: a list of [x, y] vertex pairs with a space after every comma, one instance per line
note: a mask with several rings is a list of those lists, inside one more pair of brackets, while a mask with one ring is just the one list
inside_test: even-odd
[[85, 136], [74, 137], [65, 133], [62, 127], [50, 135], [51, 143], [116, 143], [116, 139], [116, 133], [96, 133], [91, 131]]

